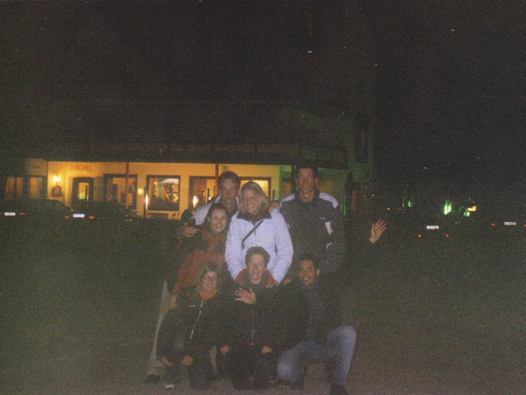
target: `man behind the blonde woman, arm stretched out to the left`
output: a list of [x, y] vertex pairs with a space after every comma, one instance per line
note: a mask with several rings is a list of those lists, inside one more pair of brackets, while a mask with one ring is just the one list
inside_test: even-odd
[[[231, 171], [222, 172], [218, 177], [218, 183], [219, 195], [213, 201], [200, 207], [190, 219], [192, 222], [195, 221], [195, 225], [201, 225], [205, 221], [208, 210], [215, 203], [224, 205], [230, 218], [237, 212], [237, 203], [239, 202], [237, 193], [241, 186], [241, 180], [238, 175]], [[188, 222], [185, 222], [183, 228], [181, 228], [181, 235], [185, 237], [193, 236], [197, 232], [198, 229], [194, 226], [189, 226]]]

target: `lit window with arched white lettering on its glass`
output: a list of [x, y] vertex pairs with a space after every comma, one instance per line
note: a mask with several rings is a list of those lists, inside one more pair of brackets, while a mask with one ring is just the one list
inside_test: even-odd
[[179, 175], [148, 175], [148, 211], [179, 211]]

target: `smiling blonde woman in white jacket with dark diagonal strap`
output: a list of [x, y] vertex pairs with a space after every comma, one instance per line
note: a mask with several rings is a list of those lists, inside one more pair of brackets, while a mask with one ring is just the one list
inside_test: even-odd
[[270, 255], [267, 269], [280, 283], [292, 262], [292, 241], [285, 219], [278, 210], [269, 212], [270, 201], [261, 186], [249, 181], [241, 188], [239, 211], [228, 230], [225, 258], [232, 278], [245, 269], [250, 247], [263, 247]]

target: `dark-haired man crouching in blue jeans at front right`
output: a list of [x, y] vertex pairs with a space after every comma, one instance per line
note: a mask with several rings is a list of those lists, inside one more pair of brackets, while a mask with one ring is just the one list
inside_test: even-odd
[[[307, 366], [326, 362], [327, 377], [331, 380], [331, 395], [348, 395], [345, 385], [356, 349], [356, 330], [338, 326], [340, 301], [330, 299], [330, 290], [319, 288], [318, 262], [312, 255], [299, 259], [298, 281], [284, 287], [283, 301], [288, 309], [289, 348], [278, 360], [280, 379], [295, 389], [303, 388]], [[294, 344], [291, 344], [294, 343]]]

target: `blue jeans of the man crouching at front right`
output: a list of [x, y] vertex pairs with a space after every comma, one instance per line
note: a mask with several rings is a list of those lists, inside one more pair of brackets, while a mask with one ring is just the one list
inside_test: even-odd
[[332, 382], [345, 386], [351, 369], [358, 335], [347, 325], [333, 329], [322, 347], [315, 340], [304, 340], [279, 356], [277, 371], [281, 379], [296, 382], [302, 380], [309, 363], [326, 362], [332, 374]]

